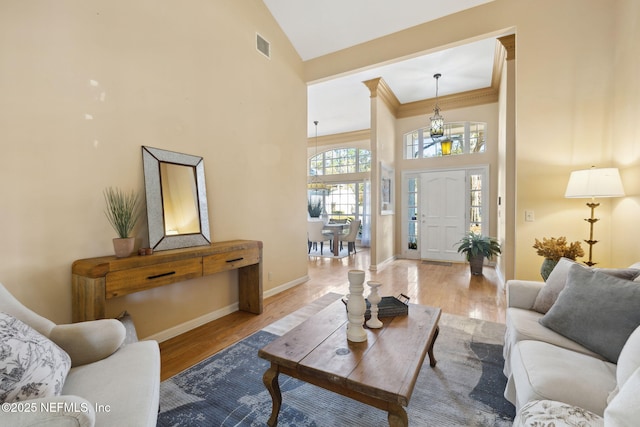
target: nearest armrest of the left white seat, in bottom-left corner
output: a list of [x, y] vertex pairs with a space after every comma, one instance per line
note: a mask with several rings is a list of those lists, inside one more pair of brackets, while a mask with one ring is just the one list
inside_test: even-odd
[[2, 426], [93, 427], [95, 423], [95, 408], [79, 396], [51, 396], [4, 403], [0, 409]]

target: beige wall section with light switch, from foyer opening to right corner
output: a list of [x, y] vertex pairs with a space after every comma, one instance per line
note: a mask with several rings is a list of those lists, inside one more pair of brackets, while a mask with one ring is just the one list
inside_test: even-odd
[[[570, 16], [571, 2], [556, 4], [554, 15]], [[612, 89], [617, 79], [613, 67], [612, 38], [615, 7], [606, 1], [581, 3], [581, 19], [552, 20], [548, 31], [538, 32], [534, 24], [548, 19], [538, 9], [531, 21], [518, 26], [517, 62], [517, 210], [516, 275], [538, 278], [540, 258], [531, 244], [534, 238], [567, 236], [571, 241], [589, 236], [583, 218], [589, 216], [585, 199], [565, 199], [564, 191], [572, 170], [591, 165], [613, 166]], [[637, 16], [637, 14], [636, 14]], [[570, 31], [568, 31], [570, 29]], [[549, 49], [543, 50], [547, 46]], [[521, 48], [522, 47], [522, 48]], [[538, 48], [546, 61], [527, 54]], [[598, 58], [598, 60], [594, 60]], [[531, 118], [531, 119], [529, 119]], [[545, 129], [545, 132], [541, 132]], [[640, 141], [632, 142], [636, 147]], [[638, 167], [638, 160], [635, 161]], [[599, 200], [595, 224], [593, 260], [599, 266], [618, 266], [622, 246], [614, 245], [611, 233], [615, 201]], [[536, 221], [525, 222], [524, 210], [535, 211]], [[637, 240], [634, 231], [624, 239]], [[585, 252], [588, 249], [583, 244]], [[639, 258], [636, 251], [631, 256]]]

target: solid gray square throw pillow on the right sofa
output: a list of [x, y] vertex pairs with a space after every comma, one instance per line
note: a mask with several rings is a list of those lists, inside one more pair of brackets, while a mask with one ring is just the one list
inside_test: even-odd
[[640, 325], [639, 307], [637, 282], [573, 265], [566, 286], [539, 322], [616, 363]]

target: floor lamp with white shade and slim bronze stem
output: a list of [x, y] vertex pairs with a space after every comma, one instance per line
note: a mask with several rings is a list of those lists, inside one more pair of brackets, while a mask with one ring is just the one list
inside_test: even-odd
[[585, 242], [589, 245], [589, 261], [585, 262], [589, 267], [596, 263], [592, 261], [593, 245], [598, 243], [593, 240], [593, 224], [598, 221], [594, 217], [594, 210], [600, 203], [596, 203], [596, 197], [623, 197], [624, 189], [620, 180], [618, 168], [595, 168], [584, 169], [571, 172], [567, 190], [564, 197], [591, 199], [587, 206], [591, 209], [591, 217], [585, 218], [589, 223], [589, 240]]

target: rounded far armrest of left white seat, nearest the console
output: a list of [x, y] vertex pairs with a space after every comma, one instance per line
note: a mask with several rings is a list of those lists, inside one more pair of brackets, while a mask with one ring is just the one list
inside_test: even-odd
[[124, 325], [115, 319], [56, 325], [49, 338], [71, 357], [71, 366], [86, 365], [111, 356], [124, 342]]

